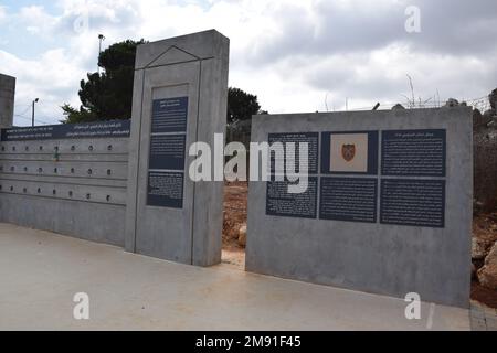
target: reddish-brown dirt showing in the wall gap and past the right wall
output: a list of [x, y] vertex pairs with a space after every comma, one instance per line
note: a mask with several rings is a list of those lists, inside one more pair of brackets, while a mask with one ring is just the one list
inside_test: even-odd
[[[245, 247], [239, 243], [239, 234], [240, 227], [246, 225], [247, 193], [246, 182], [226, 183], [224, 186], [223, 263], [241, 270], [245, 267]], [[473, 236], [496, 242], [497, 213], [476, 215], [473, 222]], [[475, 266], [482, 267], [483, 261], [476, 263]], [[473, 280], [472, 300], [497, 308], [497, 291]]]

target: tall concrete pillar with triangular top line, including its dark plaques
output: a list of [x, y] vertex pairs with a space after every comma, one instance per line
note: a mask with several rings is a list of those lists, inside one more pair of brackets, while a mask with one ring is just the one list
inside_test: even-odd
[[221, 261], [223, 182], [194, 182], [189, 150], [198, 141], [213, 148], [214, 133], [225, 131], [229, 43], [211, 30], [138, 46], [129, 252], [195, 266]]

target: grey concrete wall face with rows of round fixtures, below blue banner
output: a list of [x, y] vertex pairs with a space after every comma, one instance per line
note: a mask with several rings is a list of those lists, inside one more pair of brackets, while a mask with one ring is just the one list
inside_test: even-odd
[[0, 142], [0, 222], [124, 247], [128, 142]]

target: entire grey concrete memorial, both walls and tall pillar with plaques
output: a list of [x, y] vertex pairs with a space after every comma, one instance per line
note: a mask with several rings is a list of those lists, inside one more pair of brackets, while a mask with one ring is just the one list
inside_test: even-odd
[[[223, 182], [193, 182], [189, 147], [225, 130], [228, 66], [214, 30], [147, 43], [131, 121], [2, 130], [0, 222], [219, 264]], [[468, 306], [470, 108], [255, 116], [252, 141], [306, 143], [308, 160], [251, 181], [248, 271]]]

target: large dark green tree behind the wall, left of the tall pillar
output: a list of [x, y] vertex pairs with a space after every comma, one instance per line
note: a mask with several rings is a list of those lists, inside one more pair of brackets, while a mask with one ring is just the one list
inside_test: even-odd
[[130, 119], [136, 47], [145, 43], [127, 40], [110, 45], [98, 57], [102, 74], [87, 74], [80, 83], [80, 109], [62, 106], [62, 122]]

